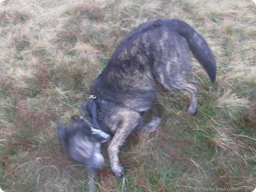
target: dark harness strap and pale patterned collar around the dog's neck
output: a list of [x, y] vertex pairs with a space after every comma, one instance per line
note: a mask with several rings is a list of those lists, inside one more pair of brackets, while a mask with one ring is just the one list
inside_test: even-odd
[[91, 128], [92, 134], [97, 136], [102, 143], [108, 142], [113, 134], [110, 132], [109, 128], [105, 125], [103, 118], [100, 115], [97, 104], [107, 104], [110, 101], [107, 101], [103, 98], [99, 98], [96, 95], [91, 95], [87, 102], [87, 109], [93, 117], [93, 122], [90, 123], [85, 117], [81, 116], [80, 119], [88, 124]]

